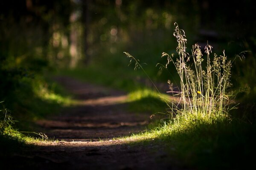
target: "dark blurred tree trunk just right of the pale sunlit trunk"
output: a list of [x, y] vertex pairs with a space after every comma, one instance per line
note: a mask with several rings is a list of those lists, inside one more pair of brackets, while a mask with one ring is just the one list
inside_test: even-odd
[[87, 36], [89, 33], [90, 26], [90, 6], [91, 0], [82, 1], [82, 24], [83, 24], [83, 53], [84, 53], [84, 63], [87, 65], [90, 62], [90, 55], [88, 54], [89, 43], [87, 41]]

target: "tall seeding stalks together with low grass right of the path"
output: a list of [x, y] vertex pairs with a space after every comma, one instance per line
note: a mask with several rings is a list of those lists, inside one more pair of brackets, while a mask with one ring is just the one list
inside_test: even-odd
[[[232, 95], [230, 77], [232, 61], [223, 55], [210, 57], [212, 46], [207, 45], [206, 57], [199, 45], [192, 54], [186, 52], [185, 32], [176, 25], [178, 58], [163, 53], [175, 66], [180, 77], [179, 90], [170, 93], [180, 103], [170, 104], [170, 119], [144, 133], [126, 138], [131, 143], [145, 142], [165, 145], [170, 158], [175, 157], [181, 167], [195, 169], [244, 169], [253, 165], [256, 151], [256, 125], [234, 117], [236, 104]], [[141, 66], [130, 54], [126, 55]], [[189, 61], [190, 60], [190, 61]], [[192, 61], [191, 61], [192, 60]], [[206, 60], [206, 64], [203, 61]], [[247, 114], [247, 113], [244, 113]], [[251, 113], [252, 114], [252, 113]]]

